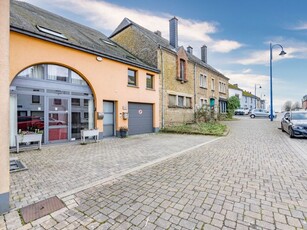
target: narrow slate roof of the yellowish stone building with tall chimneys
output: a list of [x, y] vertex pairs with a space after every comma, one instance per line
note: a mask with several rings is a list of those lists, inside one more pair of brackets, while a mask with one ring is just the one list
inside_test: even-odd
[[[129, 26], [135, 26], [137, 29], [139, 29], [144, 35], [146, 35], [149, 39], [151, 39], [153, 42], [155, 42], [157, 45], [161, 45], [163, 48], [173, 51], [173, 52], [177, 52], [178, 49], [180, 47], [178, 47], [177, 49], [175, 49], [173, 46], [171, 46], [169, 44], [169, 41], [165, 38], [163, 38], [162, 36], [159, 36], [157, 34], [155, 34], [154, 32], [144, 28], [143, 26], [140, 26], [139, 24], [131, 21], [129, 18], [124, 18], [123, 21], [118, 25], [118, 27], [114, 30], [114, 32], [110, 35], [109, 38], [114, 37], [116, 34], [120, 33], [121, 31], [125, 30], [127, 27]], [[220, 73], [219, 71], [217, 71], [216, 69], [214, 69], [212, 66], [208, 65], [207, 63], [203, 62], [201, 59], [199, 59], [198, 57], [194, 56], [193, 54], [190, 54], [189, 52], [186, 52], [188, 55], [188, 58], [190, 61], [203, 66], [215, 73], [217, 73], [218, 75], [226, 78], [229, 80], [229, 78], [227, 78], [225, 75], [223, 75], [222, 73]]]

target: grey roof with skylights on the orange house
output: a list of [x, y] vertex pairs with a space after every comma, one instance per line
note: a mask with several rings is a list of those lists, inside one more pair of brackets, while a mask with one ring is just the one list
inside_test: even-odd
[[[101, 32], [29, 3], [11, 1], [11, 30], [154, 72]], [[51, 32], [50, 32], [51, 31]], [[59, 36], [61, 35], [61, 36]]]

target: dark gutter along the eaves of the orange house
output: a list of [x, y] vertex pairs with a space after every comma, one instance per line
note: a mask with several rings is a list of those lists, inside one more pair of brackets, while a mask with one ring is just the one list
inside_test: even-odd
[[35, 33], [29, 32], [27, 30], [23, 30], [23, 29], [14, 27], [14, 26], [11, 26], [10, 30], [17, 32], [17, 33], [28, 35], [30, 37], [49, 41], [49, 42], [52, 42], [52, 43], [55, 43], [55, 44], [58, 44], [58, 45], [62, 45], [62, 46], [66, 46], [66, 47], [69, 47], [69, 48], [80, 50], [80, 51], [83, 51], [83, 52], [86, 52], [86, 53], [94, 54], [94, 55], [97, 55], [97, 56], [100, 56], [100, 57], [103, 57], [103, 58], [108, 58], [108, 59], [113, 60], [113, 61], [118, 61], [118, 62], [127, 64], [127, 65], [131, 65], [131, 66], [138, 67], [138, 68], [141, 68], [141, 69], [149, 70], [149, 71], [152, 71], [154, 73], [160, 73], [160, 71], [158, 69], [152, 68], [150, 66], [145, 66], [145, 65], [137, 64], [135, 62], [130, 62], [130, 61], [127, 61], [127, 60], [120, 58], [120, 57], [108, 55], [108, 54], [105, 54], [105, 53], [102, 53], [102, 52], [98, 52], [96, 50], [88, 49], [88, 48], [78, 46], [78, 45], [75, 45], [75, 44], [70, 44], [70, 43], [67, 43], [67, 42], [64, 42], [64, 41], [60, 41], [60, 40], [53, 39], [53, 38], [50, 38], [50, 37], [35, 34]]

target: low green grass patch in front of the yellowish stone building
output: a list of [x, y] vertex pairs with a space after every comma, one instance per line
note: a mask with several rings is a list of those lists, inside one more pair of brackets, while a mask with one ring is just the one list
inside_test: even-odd
[[227, 126], [217, 122], [201, 122], [195, 124], [168, 126], [161, 130], [165, 133], [197, 134], [222, 136], [227, 130]]

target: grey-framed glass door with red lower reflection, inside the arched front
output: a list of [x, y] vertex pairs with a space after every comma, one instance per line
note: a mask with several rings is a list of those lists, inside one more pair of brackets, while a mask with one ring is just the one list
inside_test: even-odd
[[52, 97], [48, 99], [48, 141], [68, 139], [68, 99]]

